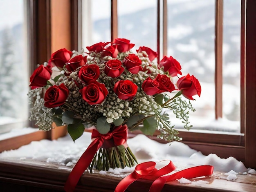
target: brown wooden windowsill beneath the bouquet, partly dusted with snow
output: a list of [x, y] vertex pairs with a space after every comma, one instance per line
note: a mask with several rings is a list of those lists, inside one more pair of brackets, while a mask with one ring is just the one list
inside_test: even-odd
[[[71, 167], [56, 165], [32, 159], [0, 159], [0, 188], [3, 191], [22, 192], [22, 186], [25, 190], [36, 189], [36, 191], [64, 191], [63, 186], [72, 170]], [[200, 186], [191, 184], [180, 184], [178, 181], [166, 183], [162, 192], [254, 192], [256, 188], [256, 175], [237, 175], [235, 181], [225, 179], [216, 179], [213, 177], [200, 178], [209, 184], [202, 183]], [[196, 180], [196, 179], [194, 179]], [[120, 178], [90, 174], [85, 172], [81, 177], [77, 187], [77, 192], [113, 192]], [[141, 191], [147, 192], [151, 182], [139, 180], [132, 183], [126, 192]], [[25, 191], [24, 190], [24, 191]]]

